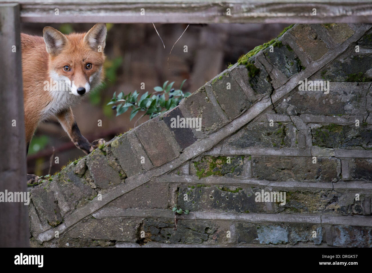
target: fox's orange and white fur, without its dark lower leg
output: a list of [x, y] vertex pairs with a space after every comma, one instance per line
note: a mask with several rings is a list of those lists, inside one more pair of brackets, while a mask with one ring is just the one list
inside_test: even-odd
[[[101, 32], [98, 33], [99, 31]], [[52, 48], [56, 52], [51, 53], [50, 50], [48, 51], [49, 53], [47, 52], [48, 40], [45, 40], [46, 32], [50, 33], [49, 39], [54, 42]], [[103, 35], [106, 36], [106, 26], [104, 24], [97, 24], [88, 34], [91, 36], [100, 34], [100, 36], [97, 36], [97, 39], [105, 39]], [[31, 141], [39, 122], [49, 116], [57, 116], [62, 127], [73, 142], [78, 142], [77, 139], [74, 139], [73, 132], [71, 131], [71, 126], [75, 121], [70, 106], [77, 103], [83, 96], [70, 94], [68, 93], [69, 91], [58, 90], [55, 92], [67, 92], [63, 94], [58, 93], [58, 96], [63, 95], [66, 103], [64, 101], [58, 101], [57, 95], [55, 95], [56, 93], [53, 94], [49, 90], [45, 91], [45, 81], [50, 81], [51, 75], [54, 75], [53, 77], [57, 78], [68, 78], [74, 82], [76, 87], [89, 85], [90, 89], [93, 89], [94, 86], [102, 81], [102, 67], [105, 61], [103, 48], [105, 44], [104, 42], [103, 44], [101, 43], [102, 52], [99, 52], [92, 45], [92, 42], [89, 42], [96, 41], [93, 39], [96, 36], [90, 40], [86, 38], [87, 36], [87, 33], [63, 35], [51, 27], [44, 28], [44, 38], [24, 33], [21, 34], [23, 102], [27, 144]], [[55, 37], [60, 40], [53, 40]], [[92, 64], [91, 69], [86, 69], [87, 63]], [[64, 66], [70, 66], [71, 71], [65, 71]]]

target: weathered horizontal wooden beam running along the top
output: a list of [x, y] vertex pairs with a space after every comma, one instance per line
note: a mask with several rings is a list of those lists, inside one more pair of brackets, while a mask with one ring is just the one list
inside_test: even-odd
[[[1, 2], [1, 0], [0, 0]], [[15, 2], [3, 0], [2, 2]], [[370, 23], [370, 0], [18, 0], [32, 23]], [[313, 9], [317, 15], [312, 15]], [[56, 10], [58, 9], [58, 15]], [[144, 9], [144, 15], [141, 15]], [[231, 9], [231, 15], [227, 15]]]

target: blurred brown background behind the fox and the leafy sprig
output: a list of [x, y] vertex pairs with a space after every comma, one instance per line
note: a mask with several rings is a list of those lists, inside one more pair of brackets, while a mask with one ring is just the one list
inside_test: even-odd
[[[22, 24], [23, 33], [42, 36], [45, 24]], [[87, 32], [93, 24], [49, 24], [64, 34]], [[179, 88], [184, 79], [183, 92], [194, 92], [205, 82], [227, 69], [238, 58], [275, 37], [287, 24], [190, 24], [181, 39], [187, 24], [155, 24], [163, 39], [161, 42], [153, 24], [107, 24], [105, 47], [106, 78], [102, 88], [89, 93], [73, 113], [81, 133], [89, 141], [104, 138], [109, 141], [122, 134], [141, 115], [129, 121], [130, 111], [116, 116], [112, 105], [107, 103], [116, 94], [154, 92], [155, 86], [163, 86], [166, 80]], [[184, 52], [187, 46], [187, 52]], [[169, 56], [169, 69], [167, 59]], [[141, 90], [141, 83], [145, 89]], [[141, 118], [137, 125], [147, 121]], [[97, 126], [98, 120], [102, 126]], [[85, 154], [76, 148], [57, 119], [39, 125], [29, 146], [27, 157], [28, 174], [54, 174], [70, 161]], [[55, 164], [55, 157], [59, 163]], [[50, 159], [53, 159], [52, 161]], [[49, 170], [50, 168], [50, 170]]]

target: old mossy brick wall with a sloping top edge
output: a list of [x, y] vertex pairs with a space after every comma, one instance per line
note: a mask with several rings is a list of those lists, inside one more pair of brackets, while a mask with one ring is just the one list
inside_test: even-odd
[[31, 190], [32, 246], [371, 247], [371, 27], [296, 24], [72, 162]]

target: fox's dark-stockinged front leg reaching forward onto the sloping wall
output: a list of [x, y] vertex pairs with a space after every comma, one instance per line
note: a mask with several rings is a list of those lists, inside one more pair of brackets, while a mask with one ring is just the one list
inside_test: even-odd
[[81, 135], [71, 107], [58, 114], [57, 119], [62, 125], [62, 128], [67, 132], [68, 136], [71, 138], [75, 146], [81, 149], [86, 154], [89, 154], [94, 149], [98, 148], [99, 145], [105, 143], [105, 140], [103, 138], [97, 139], [93, 142], [89, 142], [86, 138], [83, 137], [83, 135]]

